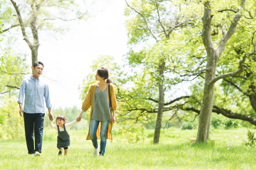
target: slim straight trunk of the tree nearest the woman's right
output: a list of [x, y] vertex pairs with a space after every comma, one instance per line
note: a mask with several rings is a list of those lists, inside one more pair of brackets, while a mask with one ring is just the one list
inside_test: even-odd
[[154, 144], [159, 143], [159, 137], [161, 132], [161, 125], [162, 125], [162, 115], [163, 115], [163, 106], [164, 106], [164, 66], [165, 61], [162, 59], [161, 63], [159, 64], [159, 101], [158, 101], [158, 112], [157, 112], [157, 119], [155, 125], [155, 132], [154, 132]]

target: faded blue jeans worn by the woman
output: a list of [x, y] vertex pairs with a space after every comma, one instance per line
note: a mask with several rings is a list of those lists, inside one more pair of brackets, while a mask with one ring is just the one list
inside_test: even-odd
[[106, 144], [107, 144], [107, 138], [106, 138], [106, 131], [109, 125], [109, 120], [107, 121], [96, 121], [94, 119], [91, 119], [91, 126], [90, 126], [90, 137], [91, 140], [93, 142], [93, 146], [94, 148], [98, 148], [98, 142], [97, 142], [97, 136], [96, 136], [96, 132], [99, 126], [99, 123], [101, 122], [101, 133], [100, 133], [100, 137], [101, 137], [101, 151], [99, 152], [99, 154], [104, 156], [105, 153], [105, 148], [106, 148]]

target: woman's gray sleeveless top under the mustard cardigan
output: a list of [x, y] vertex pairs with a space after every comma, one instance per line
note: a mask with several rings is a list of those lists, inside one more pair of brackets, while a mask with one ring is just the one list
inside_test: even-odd
[[99, 92], [98, 86], [96, 87], [91, 118], [96, 121], [107, 121], [111, 119], [107, 88], [103, 92]]

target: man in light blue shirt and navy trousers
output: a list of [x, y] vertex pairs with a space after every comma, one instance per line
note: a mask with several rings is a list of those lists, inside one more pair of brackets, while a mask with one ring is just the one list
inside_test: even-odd
[[[24, 116], [26, 144], [28, 154], [34, 156], [41, 155], [42, 139], [43, 139], [43, 120], [44, 120], [44, 97], [46, 107], [49, 112], [49, 119], [54, 117], [51, 111], [51, 102], [49, 98], [49, 88], [45, 81], [41, 80], [44, 64], [42, 62], [35, 62], [32, 70], [33, 75], [30, 78], [22, 80], [19, 90], [19, 115]], [[24, 110], [22, 108], [25, 93]], [[35, 147], [33, 139], [33, 131], [35, 137]]]

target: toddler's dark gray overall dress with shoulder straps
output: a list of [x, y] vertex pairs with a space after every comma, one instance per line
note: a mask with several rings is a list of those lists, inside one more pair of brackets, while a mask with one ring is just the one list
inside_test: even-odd
[[57, 139], [57, 148], [65, 148], [70, 146], [70, 137], [68, 132], [66, 131], [65, 124], [63, 125], [64, 131], [60, 131], [59, 125], [58, 127], [58, 139]]

